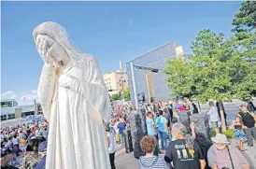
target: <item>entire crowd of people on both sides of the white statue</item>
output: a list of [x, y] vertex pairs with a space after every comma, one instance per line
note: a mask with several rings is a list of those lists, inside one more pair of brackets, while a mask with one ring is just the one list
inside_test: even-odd
[[[219, 103], [220, 104], [220, 103]], [[249, 163], [240, 151], [247, 150], [248, 143], [253, 147], [256, 141], [256, 108], [252, 103], [240, 106], [230, 128], [234, 129], [239, 149], [229, 145], [225, 134], [221, 134], [220, 111], [218, 106], [209, 102], [207, 111], [210, 128], [216, 135], [211, 143], [206, 142], [203, 134], [196, 134], [191, 123], [191, 133], [180, 123], [181, 113], [199, 113], [195, 104], [186, 102], [144, 103], [140, 108], [147, 111], [147, 135], [140, 142], [145, 156], [140, 157], [140, 169], [249, 169]], [[129, 115], [135, 105], [115, 106], [106, 125], [107, 148], [111, 168], [115, 169], [117, 147], [125, 147], [124, 130], [130, 127]], [[46, 120], [1, 128], [1, 168], [43, 169], [49, 124]], [[120, 145], [120, 146], [118, 146]], [[162, 154], [162, 156], [160, 156]]]

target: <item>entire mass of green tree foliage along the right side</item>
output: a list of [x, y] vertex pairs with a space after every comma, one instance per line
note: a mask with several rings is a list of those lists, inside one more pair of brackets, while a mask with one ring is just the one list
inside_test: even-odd
[[235, 15], [233, 37], [225, 39], [222, 33], [202, 30], [192, 42], [193, 54], [187, 60], [166, 61], [164, 72], [169, 75], [166, 80], [173, 96], [182, 94], [203, 103], [208, 99], [247, 101], [256, 92], [256, 36], [251, 27], [255, 10], [249, 3], [244, 2]]

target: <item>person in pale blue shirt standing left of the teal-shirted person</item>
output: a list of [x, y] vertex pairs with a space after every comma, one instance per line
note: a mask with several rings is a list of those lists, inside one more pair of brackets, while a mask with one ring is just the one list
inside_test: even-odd
[[158, 139], [157, 139], [157, 132], [155, 127], [155, 122], [153, 120], [153, 115], [151, 112], [148, 112], [147, 114], [147, 132], [149, 136], [153, 136], [156, 142], [156, 147], [154, 151], [154, 155], [158, 155]]

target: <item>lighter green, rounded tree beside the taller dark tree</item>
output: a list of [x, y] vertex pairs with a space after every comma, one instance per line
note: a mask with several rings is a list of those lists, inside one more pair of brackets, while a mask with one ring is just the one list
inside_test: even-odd
[[[171, 91], [185, 93], [206, 103], [209, 99], [229, 101], [232, 92], [232, 67], [230, 58], [235, 54], [232, 42], [224, 40], [223, 34], [216, 34], [208, 29], [202, 30], [192, 42], [193, 54], [187, 61], [168, 60], [164, 72], [169, 74], [167, 82]], [[238, 55], [239, 56], [239, 55]], [[222, 127], [225, 131], [223, 111], [220, 111]]]

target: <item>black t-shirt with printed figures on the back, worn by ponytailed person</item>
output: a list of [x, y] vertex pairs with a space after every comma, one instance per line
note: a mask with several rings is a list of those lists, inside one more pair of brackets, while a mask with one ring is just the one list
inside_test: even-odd
[[173, 162], [175, 169], [200, 169], [200, 160], [204, 159], [199, 145], [194, 142], [189, 150], [184, 139], [171, 142], [164, 155], [165, 162]]

